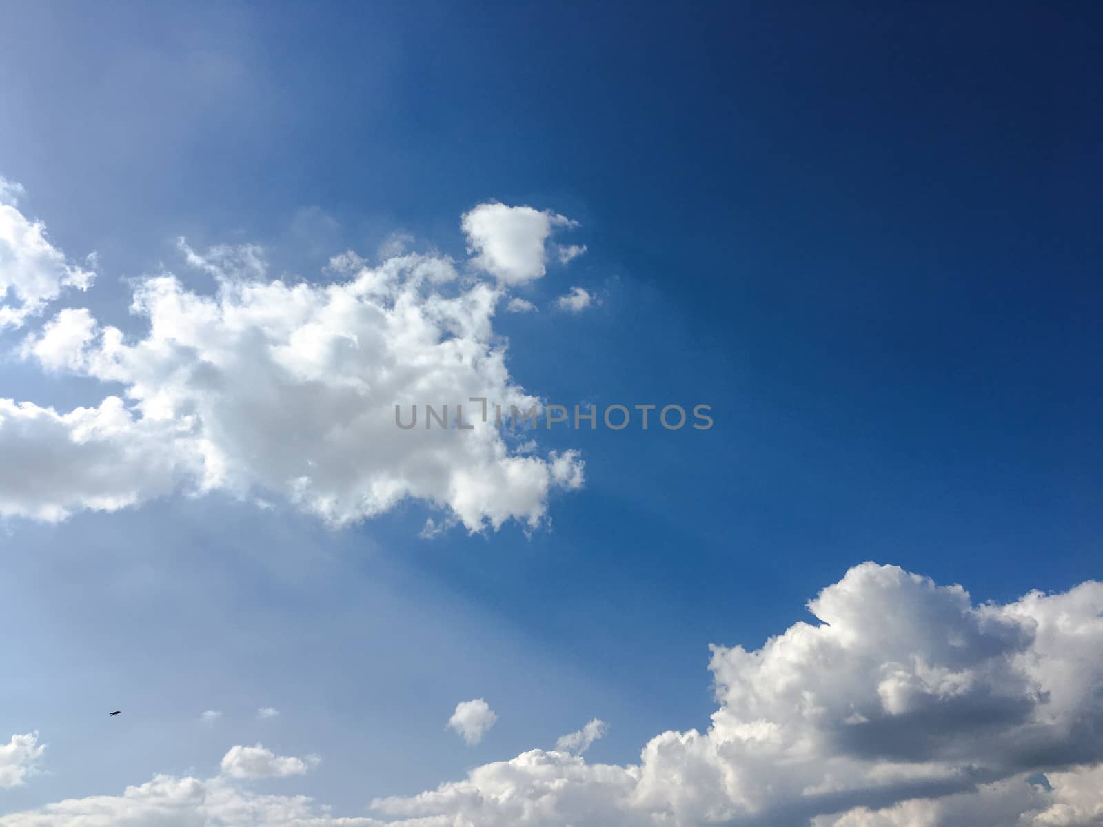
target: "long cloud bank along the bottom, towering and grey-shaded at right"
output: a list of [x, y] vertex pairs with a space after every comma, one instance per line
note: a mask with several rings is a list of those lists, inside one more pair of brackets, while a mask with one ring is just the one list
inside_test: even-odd
[[[634, 764], [577, 754], [597, 737], [592, 722], [556, 750], [376, 799], [374, 819], [326, 820], [304, 799], [265, 804], [225, 780], [158, 778], [116, 798], [10, 815], [0, 827], [1103, 824], [1103, 583], [975, 605], [959, 587], [864, 563], [808, 608], [816, 622], [759, 649], [714, 646], [710, 726], [656, 735]], [[146, 799], [169, 791], [186, 795], [162, 817]], [[139, 799], [161, 820], [104, 815]], [[200, 820], [218, 817], [212, 802], [238, 820]]]

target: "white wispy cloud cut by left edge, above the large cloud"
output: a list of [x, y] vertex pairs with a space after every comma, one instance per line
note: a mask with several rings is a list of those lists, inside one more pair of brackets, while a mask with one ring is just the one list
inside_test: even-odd
[[19, 211], [22, 192], [0, 178], [0, 330], [22, 326], [66, 288], [87, 290], [95, 276], [50, 243], [45, 224]]

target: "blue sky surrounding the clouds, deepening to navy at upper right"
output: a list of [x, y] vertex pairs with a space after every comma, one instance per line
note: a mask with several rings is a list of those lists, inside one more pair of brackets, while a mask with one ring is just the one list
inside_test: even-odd
[[[131, 294], [164, 270], [213, 294], [180, 237], [257, 244], [266, 278], [322, 284], [331, 256], [375, 265], [405, 235], [470, 277], [461, 215], [501, 202], [577, 222], [548, 238], [586, 246], [510, 293], [538, 312], [495, 313], [512, 382], [567, 405], [707, 404], [715, 426], [542, 432], [585, 483], [552, 491], [534, 530], [426, 539], [449, 512], [424, 497], [333, 527], [277, 494], [186, 486], [12, 516], [0, 735], [49, 748], [0, 812], [208, 777], [256, 742], [322, 759], [258, 790], [356, 816], [592, 718], [609, 731], [587, 760], [629, 765], [709, 726], [708, 644], [811, 622], [805, 602], [858, 563], [974, 604], [1100, 577], [1088, 6], [6, 15], [0, 175], [57, 249], [97, 261], [87, 291], [0, 329], [0, 397], [122, 394], [21, 343], [63, 308], [141, 339]], [[576, 286], [590, 307], [557, 308]], [[469, 698], [497, 715], [474, 747], [446, 730]]]

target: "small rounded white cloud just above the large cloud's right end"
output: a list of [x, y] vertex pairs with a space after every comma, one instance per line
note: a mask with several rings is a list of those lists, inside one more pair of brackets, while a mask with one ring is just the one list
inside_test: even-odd
[[471, 251], [478, 254], [471, 259], [475, 267], [503, 284], [523, 284], [546, 272], [545, 243], [552, 233], [578, 223], [529, 206], [480, 204], [464, 213], [460, 226]]

